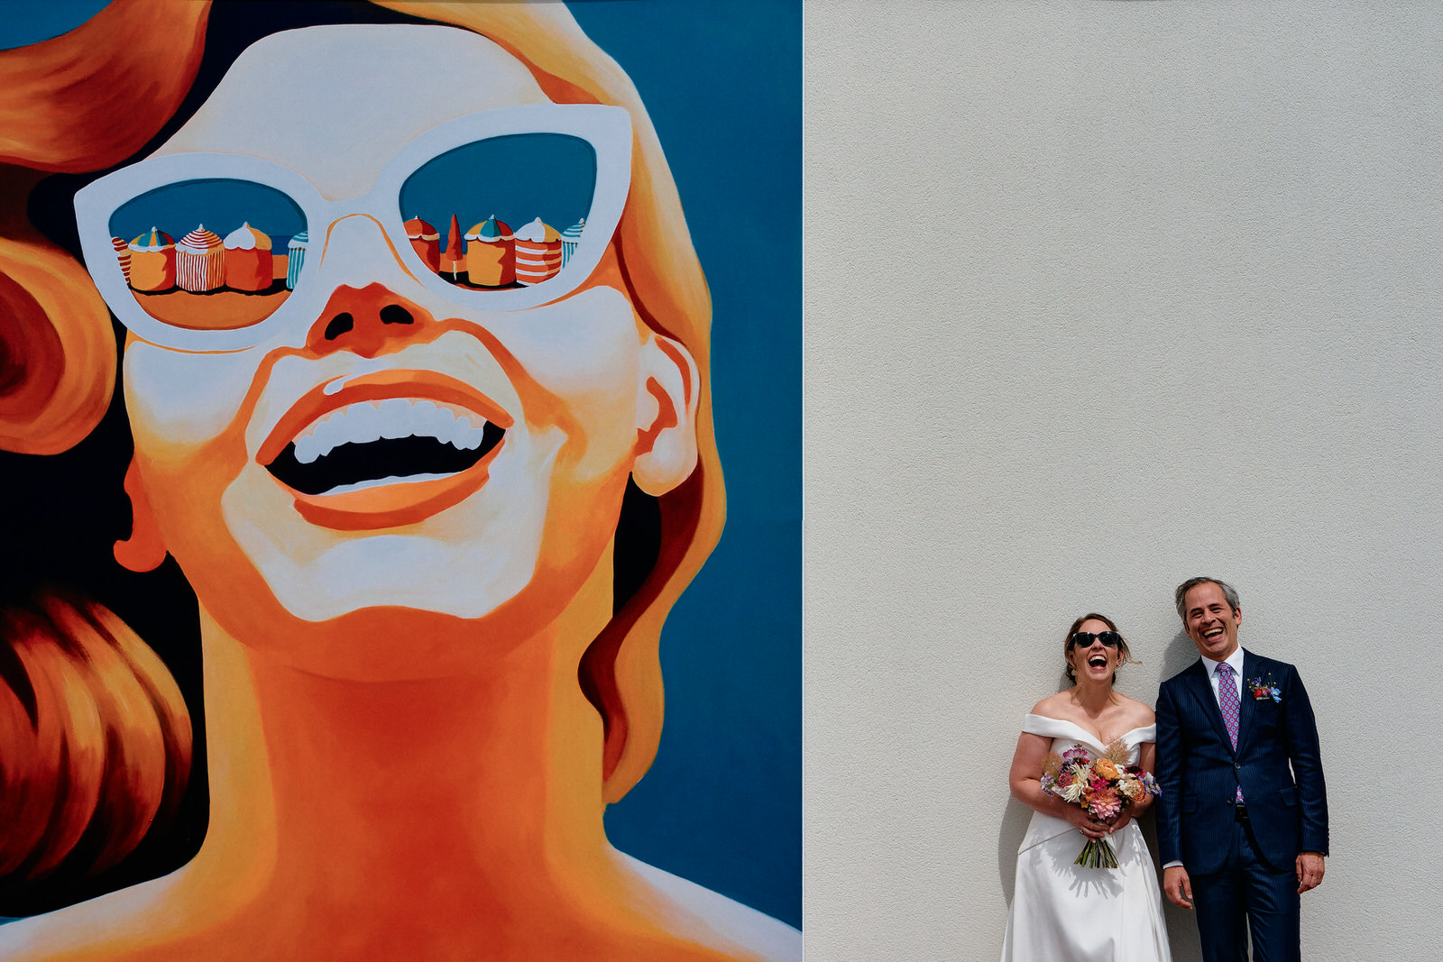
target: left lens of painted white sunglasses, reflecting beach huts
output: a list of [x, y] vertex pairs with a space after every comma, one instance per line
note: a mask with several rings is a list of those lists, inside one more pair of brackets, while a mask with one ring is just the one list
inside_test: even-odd
[[306, 255], [306, 215], [250, 180], [185, 180], [110, 218], [111, 247], [140, 307], [175, 327], [234, 330], [270, 317]]

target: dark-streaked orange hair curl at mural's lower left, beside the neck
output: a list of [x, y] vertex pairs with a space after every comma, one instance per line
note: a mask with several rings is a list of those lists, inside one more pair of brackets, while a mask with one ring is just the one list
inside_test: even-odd
[[94, 601], [43, 593], [0, 612], [0, 877], [104, 871], [185, 793], [180, 689]]

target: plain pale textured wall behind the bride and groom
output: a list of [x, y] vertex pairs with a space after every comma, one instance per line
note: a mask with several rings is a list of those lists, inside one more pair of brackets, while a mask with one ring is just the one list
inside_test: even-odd
[[805, 20], [810, 962], [997, 958], [1061, 632], [1152, 702], [1193, 574], [1319, 714], [1304, 958], [1436, 959], [1443, 7]]

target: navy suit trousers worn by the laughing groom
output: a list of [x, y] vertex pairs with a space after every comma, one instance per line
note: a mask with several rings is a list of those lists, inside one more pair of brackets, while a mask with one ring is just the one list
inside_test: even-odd
[[1206, 962], [1300, 962], [1297, 873], [1278, 871], [1257, 852], [1247, 821], [1234, 824], [1228, 860], [1211, 875], [1192, 875], [1192, 903]]

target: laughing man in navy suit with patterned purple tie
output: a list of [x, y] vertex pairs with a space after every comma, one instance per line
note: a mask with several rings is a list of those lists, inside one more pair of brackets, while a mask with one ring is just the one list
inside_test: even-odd
[[[1297, 962], [1299, 896], [1323, 880], [1328, 799], [1317, 727], [1291, 665], [1238, 648], [1238, 593], [1177, 586], [1201, 659], [1157, 692], [1163, 891], [1196, 907], [1206, 962]], [[1294, 782], [1296, 779], [1296, 782]]]

